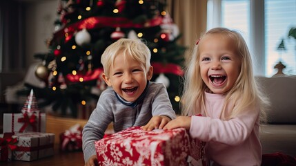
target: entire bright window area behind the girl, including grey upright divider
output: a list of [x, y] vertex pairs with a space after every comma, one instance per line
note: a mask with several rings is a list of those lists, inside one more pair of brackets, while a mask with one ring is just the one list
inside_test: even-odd
[[[288, 38], [290, 28], [296, 28], [295, 0], [208, 0], [208, 12], [208, 29], [241, 31], [255, 56], [255, 75], [273, 76], [279, 61], [286, 66], [284, 73], [296, 75], [296, 40]], [[280, 51], [282, 39], [286, 50]]]

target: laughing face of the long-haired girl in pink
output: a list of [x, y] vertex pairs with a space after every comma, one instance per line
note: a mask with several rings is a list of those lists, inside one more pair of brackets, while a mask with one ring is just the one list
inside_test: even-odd
[[201, 78], [212, 93], [226, 93], [233, 88], [240, 73], [241, 60], [235, 43], [221, 34], [206, 35], [199, 42]]

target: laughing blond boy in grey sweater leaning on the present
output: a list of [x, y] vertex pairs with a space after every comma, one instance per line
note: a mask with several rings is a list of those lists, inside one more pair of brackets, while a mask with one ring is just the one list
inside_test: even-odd
[[103, 138], [110, 122], [115, 132], [132, 126], [144, 130], [162, 129], [176, 117], [163, 84], [150, 82], [151, 53], [140, 39], [119, 39], [101, 55], [103, 80], [108, 89], [101, 93], [97, 107], [83, 127], [83, 155], [96, 165], [96, 140]]

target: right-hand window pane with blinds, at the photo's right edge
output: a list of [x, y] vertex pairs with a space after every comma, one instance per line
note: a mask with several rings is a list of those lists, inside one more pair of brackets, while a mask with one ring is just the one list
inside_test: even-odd
[[[266, 75], [272, 76], [270, 70], [279, 61], [286, 69], [284, 73], [296, 75], [296, 40], [288, 38], [290, 28], [296, 28], [295, 0], [265, 0], [265, 50]], [[286, 50], [279, 51], [277, 47], [284, 39]]]

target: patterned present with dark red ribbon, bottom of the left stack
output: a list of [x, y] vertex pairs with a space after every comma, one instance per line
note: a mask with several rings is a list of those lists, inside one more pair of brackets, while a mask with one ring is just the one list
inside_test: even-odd
[[54, 133], [14, 133], [12, 138], [17, 139], [12, 160], [32, 161], [54, 154]]

